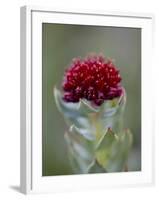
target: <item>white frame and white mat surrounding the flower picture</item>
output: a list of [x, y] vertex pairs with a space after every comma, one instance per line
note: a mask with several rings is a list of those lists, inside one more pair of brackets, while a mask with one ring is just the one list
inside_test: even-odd
[[[149, 96], [152, 94], [153, 18], [151, 14], [129, 12], [57, 10], [35, 6], [21, 8], [21, 192], [28, 194], [78, 191], [152, 185], [154, 183], [153, 110], [152, 104], [149, 103]], [[42, 177], [41, 28], [44, 22], [138, 27], [142, 29], [141, 171]]]

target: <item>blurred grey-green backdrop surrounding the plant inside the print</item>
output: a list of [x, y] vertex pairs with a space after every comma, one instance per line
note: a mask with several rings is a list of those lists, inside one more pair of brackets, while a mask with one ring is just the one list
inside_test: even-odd
[[74, 57], [90, 52], [115, 60], [127, 92], [124, 126], [134, 136], [129, 171], [141, 170], [141, 29], [44, 23], [42, 26], [43, 176], [72, 174], [64, 141], [65, 122], [56, 108], [53, 87]]

